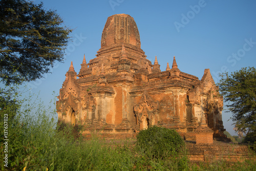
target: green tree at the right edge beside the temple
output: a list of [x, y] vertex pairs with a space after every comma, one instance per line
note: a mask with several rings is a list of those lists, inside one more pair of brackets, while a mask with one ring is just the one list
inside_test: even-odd
[[256, 70], [254, 67], [223, 73], [218, 83], [237, 131], [247, 132], [247, 140], [256, 141]]

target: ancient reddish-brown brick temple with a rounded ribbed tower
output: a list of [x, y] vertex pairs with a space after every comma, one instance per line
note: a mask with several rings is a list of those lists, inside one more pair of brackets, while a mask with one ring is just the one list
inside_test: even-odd
[[154, 64], [146, 58], [134, 18], [126, 14], [106, 20], [96, 58], [87, 63], [83, 57], [78, 74], [71, 62], [58, 98], [59, 121], [83, 124], [86, 137], [134, 137], [159, 125], [186, 140], [205, 129], [225, 138], [223, 98], [209, 69], [199, 80], [180, 71], [174, 57], [172, 68], [167, 63], [161, 71], [157, 57]]

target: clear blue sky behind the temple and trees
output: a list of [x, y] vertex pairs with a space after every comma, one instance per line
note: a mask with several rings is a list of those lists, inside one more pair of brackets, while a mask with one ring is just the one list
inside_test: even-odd
[[[74, 29], [65, 61], [56, 63], [51, 74], [30, 82], [32, 93], [46, 103], [58, 95], [71, 61], [78, 73], [86, 60], [95, 58], [106, 19], [114, 14], [131, 15], [138, 26], [141, 49], [160, 69], [172, 64], [180, 71], [202, 78], [210, 69], [215, 81], [219, 73], [233, 72], [256, 64], [256, 1], [135, 1], [73, 0], [42, 1], [46, 9], [56, 10], [65, 25]], [[35, 1], [39, 3], [39, 1]], [[230, 113], [223, 111], [224, 127], [234, 135]]]

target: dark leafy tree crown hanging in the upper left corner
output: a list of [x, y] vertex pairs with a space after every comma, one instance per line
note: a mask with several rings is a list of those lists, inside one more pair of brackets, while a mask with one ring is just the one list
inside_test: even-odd
[[0, 78], [6, 84], [41, 78], [62, 61], [72, 30], [56, 11], [26, 0], [0, 1]]

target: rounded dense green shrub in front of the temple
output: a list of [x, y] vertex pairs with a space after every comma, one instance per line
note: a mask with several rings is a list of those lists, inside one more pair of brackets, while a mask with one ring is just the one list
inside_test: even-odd
[[148, 157], [164, 158], [181, 152], [184, 141], [175, 130], [152, 126], [139, 132], [136, 147]]

